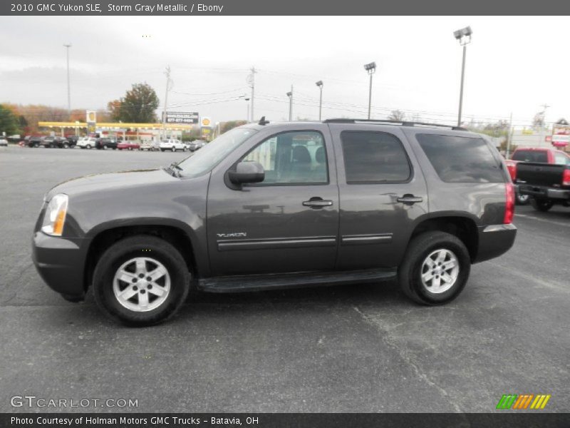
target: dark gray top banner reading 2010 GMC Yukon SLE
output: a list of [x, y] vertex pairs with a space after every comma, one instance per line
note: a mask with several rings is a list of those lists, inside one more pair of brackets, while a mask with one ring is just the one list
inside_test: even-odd
[[[306, 1], [306, 0], [2, 0], [3, 16], [263, 16], [263, 15], [568, 15], [570, 2], [543, 1]], [[412, 31], [413, 29], [410, 29]]]

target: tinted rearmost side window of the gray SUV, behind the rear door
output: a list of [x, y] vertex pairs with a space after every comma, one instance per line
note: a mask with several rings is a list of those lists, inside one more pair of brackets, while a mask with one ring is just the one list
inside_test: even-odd
[[418, 134], [425, 155], [447, 183], [503, 183], [501, 165], [482, 138]]

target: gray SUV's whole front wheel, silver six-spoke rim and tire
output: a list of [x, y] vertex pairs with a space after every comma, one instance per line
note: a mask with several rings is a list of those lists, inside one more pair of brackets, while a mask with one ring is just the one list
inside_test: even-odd
[[95, 302], [108, 316], [142, 327], [167, 320], [185, 302], [190, 273], [178, 250], [148, 235], [125, 238], [93, 272]]

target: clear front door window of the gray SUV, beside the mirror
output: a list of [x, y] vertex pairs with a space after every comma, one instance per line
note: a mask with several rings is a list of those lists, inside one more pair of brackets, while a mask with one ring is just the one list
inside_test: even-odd
[[326, 149], [320, 132], [271, 136], [242, 159], [251, 161], [261, 163], [265, 170], [265, 179], [259, 185], [328, 183]]

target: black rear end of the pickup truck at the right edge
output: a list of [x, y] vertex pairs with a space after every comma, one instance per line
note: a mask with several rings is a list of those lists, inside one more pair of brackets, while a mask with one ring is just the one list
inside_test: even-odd
[[564, 163], [519, 163], [517, 183], [535, 210], [548, 211], [557, 204], [570, 207], [570, 158]]

